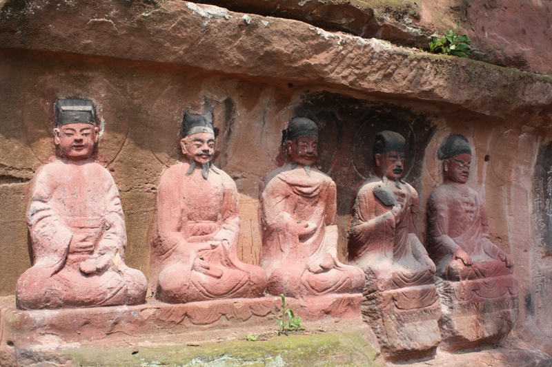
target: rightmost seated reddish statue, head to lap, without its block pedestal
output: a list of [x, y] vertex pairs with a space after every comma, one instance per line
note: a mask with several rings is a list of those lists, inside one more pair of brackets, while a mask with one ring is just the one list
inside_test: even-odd
[[[489, 239], [483, 198], [466, 185], [471, 164], [468, 140], [450, 136], [440, 147], [439, 158], [444, 160], [444, 182], [431, 192], [427, 210], [427, 249], [437, 275], [460, 281], [512, 274], [512, 258]], [[508, 283], [503, 285], [513, 286]], [[488, 285], [480, 292], [504, 291], [503, 286]]]

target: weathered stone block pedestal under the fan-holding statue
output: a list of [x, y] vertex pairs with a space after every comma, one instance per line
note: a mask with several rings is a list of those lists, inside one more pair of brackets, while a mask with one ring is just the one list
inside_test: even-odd
[[388, 361], [435, 356], [441, 309], [433, 284], [364, 295], [362, 315]]

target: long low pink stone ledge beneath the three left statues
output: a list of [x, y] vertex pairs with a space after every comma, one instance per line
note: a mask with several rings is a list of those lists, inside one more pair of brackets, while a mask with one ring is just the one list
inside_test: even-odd
[[[286, 298], [286, 306], [307, 320], [325, 316], [358, 317], [361, 294]], [[65, 308], [21, 311], [0, 309], [0, 346], [55, 347], [113, 335], [179, 334], [193, 328], [224, 328], [273, 320], [282, 310], [280, 297], [164, 304], [148, 300], [139, 306]]]

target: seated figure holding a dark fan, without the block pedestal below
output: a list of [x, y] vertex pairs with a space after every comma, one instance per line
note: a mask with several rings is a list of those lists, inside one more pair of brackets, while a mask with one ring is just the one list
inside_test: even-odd
[[[405, 140], [396, 132], [376, 134], [373, 177], [357, 192], [349, 229], [349, 264], [366, 273], [373, 291], [433, 285], [435, 264], [415, 234], [420, 200], [401, 180]], [[432, 297], [405, 298], [415, 308]], [[396, 300], [395, 302], [398, 302]], [[404, 305], [406, 306], [406, 304]]]

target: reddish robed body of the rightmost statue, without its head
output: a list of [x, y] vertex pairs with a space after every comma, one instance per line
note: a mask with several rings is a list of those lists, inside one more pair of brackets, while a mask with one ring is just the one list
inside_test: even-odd
[[[475, 280], [513, 273], [513, 266], [500, 260], [503, 251], [489, 239], [484, 200], [467, 185], [446, 182], [433, 189], [427, 216], [427, 249], [440, 277]], [[453, 259], [459, 247], [470, 255], [471, 266]]]

